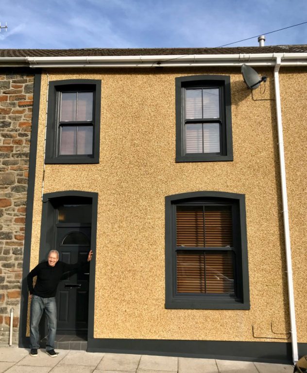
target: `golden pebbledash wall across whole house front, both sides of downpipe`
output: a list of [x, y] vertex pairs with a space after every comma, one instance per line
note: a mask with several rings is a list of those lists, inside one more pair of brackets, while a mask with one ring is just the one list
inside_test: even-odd
[[[100, 163], [47, 164], [43, 189], [44, 194], [66, 190], [99, 194], [94, 338], [289, 342], [273, 70], [258, 69], [268, 76], [265, 92], [254, 92], [259, 101], [252, 99], [235, 68], [48, 73], [49, 81], [102, 81]], [[231, 77], [233, 161], [175, 162], [175, 78], [197, 74]], [[303, 69], [280, 71], [300, 343], [307, 343], [306, 76]], [[43, 73], [30, 269], [39, 257], [47, 87]], [[250, 310], [164, 307], [165, 196], [193, 191], [246, 197]], [[274, 339], [271, 325], [280, 339]]]

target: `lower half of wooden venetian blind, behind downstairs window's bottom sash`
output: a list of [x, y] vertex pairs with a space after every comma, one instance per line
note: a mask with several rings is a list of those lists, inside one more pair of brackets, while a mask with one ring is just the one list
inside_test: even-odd
[[232, 251], [177, 251], [177, 292], [234, 292]]

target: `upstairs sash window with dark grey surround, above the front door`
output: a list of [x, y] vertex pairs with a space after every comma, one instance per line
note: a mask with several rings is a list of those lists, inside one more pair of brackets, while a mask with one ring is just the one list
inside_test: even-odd
[[46, 163], [98, 163], [101, 81], [49, 85]]

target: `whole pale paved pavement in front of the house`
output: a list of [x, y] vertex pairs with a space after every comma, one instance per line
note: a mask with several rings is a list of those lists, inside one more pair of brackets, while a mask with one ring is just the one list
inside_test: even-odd
[[197, 359], [188, 357], [90, 353], [56, 350], [50, 357], [45, 350], [38, 356], [18, 347], [0, 347], [0, 373], [292, 373], [284, 364], [248, 361]]

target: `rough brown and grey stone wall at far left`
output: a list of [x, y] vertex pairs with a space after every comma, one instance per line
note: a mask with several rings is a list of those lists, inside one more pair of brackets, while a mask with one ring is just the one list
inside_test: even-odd
[[34, 75], [0, 70], [0, 345], [18, 343]]

